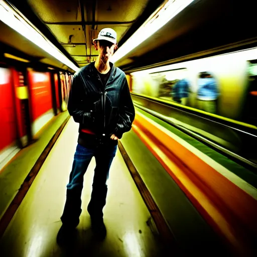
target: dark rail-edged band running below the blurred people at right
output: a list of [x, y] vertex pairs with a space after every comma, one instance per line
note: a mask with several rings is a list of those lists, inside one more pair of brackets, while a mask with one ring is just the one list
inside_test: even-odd
[[132, 93], [136, 107], [176, 127], [243, 167], [257, 171], [257, 131], [250, 127]]

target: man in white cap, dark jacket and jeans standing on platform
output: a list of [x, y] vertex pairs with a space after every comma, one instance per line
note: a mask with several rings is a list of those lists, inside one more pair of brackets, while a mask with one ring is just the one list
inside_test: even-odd
[[105, 238], [102, 209], [107, 195], [109, 168], [116, 153], [117, 140], [131, 130], [135, 118], [125, 74], [109, 61], [117, 48], [116, 32], [102, 29], [93, 44], [99, 55], [95, 62], [75, 74], [68, 101], [68, 111], [79, 123], [79, 136], [57, 241], [62, 241], [79, 224], [83, 176], [92, 157], [95, 157], [96, 167], [87, 210], [92, 230], [100, 238]]

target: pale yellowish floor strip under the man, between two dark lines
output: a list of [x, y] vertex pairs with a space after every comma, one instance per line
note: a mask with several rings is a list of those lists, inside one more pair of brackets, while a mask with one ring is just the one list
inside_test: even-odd
[[[108, 181], [104, 221], [107, 236], [95, 241], [86, 210], [91, 195], [92, 159], [84, 176], [82, 213], [73, 245], [61, 248], [56, 235], [61, 226], [78, 124], [68, 121], [31, 188], [0, 241], [1, 256], [162, 256], [162, 245], [149, 226], [150, 213], [119, 151]], [[151, 223], [151, 222], [150, 222]]]

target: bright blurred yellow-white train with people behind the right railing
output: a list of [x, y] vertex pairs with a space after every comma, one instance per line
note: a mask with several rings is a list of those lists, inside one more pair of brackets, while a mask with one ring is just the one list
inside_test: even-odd
[[130, 75], [133, 93], [257, 125], [257, 48]]

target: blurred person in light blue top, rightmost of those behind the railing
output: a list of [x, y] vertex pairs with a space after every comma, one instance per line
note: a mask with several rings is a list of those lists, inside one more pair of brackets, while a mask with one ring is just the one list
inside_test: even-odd
[[208, 72], [201, 72], [198, 79], [198, 108], [210, 113], [217, 112], [218, 86], [215, 78]]

